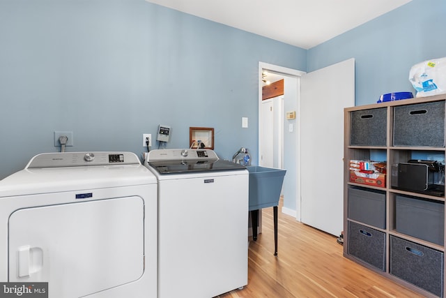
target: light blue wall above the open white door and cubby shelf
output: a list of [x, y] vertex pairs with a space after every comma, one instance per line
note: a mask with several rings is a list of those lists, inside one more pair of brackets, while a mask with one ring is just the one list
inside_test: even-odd
[[410, 68], [446, 57], [446, 1], [413, 0], [308, 50], [307, 72], [355, 58], [355, 105], [412, 91]]

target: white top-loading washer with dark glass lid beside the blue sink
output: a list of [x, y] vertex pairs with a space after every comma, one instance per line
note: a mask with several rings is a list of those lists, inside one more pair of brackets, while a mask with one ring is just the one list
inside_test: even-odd
[[145, 165], [158, 180], [158, 297], [247, 285], [246, 168], [205, 149], [153, 150]]

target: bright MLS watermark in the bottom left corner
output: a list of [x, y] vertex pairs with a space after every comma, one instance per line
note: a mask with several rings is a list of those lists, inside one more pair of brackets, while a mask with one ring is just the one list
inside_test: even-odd
[[48, 283], [0, 283], [0, 298], [48, 298]]

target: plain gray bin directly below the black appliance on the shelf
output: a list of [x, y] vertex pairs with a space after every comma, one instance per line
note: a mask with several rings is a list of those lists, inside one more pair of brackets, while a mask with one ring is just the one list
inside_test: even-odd
[[445, 239], [445, 204], [397, 195], [397, 232], [442, 245]]

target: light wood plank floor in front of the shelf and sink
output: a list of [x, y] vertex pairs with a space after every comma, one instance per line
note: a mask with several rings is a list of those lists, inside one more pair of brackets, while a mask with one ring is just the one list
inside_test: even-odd
[[250, 241], [248, 285], [220, 298], [423, 297], [344, 258], [334, 237], [282, 214], [274, 254], [272, 208], [263, 209], [262, 233]]

